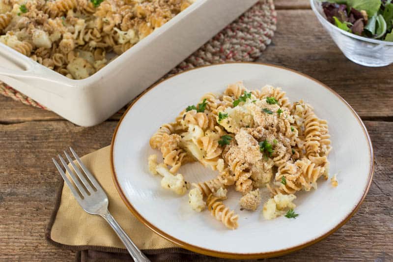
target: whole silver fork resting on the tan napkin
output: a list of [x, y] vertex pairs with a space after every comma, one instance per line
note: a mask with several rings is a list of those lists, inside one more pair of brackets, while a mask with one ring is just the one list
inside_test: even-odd
[[[84, 175], [81, 172], [71, 157], [68, 155], [66, 151], [64, 151], [64, 155], [67, 158], [68, 162], [71, 164], [72, 168], [75, 170], [75, 173], [68, 167], [65, 160], [58, 155], [58, 158], [63, 164], [64, 168], [70, 174], [72, 181], [74, 181], [74, 185], [65, 175], [64, 171], [61, 169], [60, 165], [57, 163], [55, 158], [52, 158], [55, 166], [60, 173], [61, 177], [63, 177], [64, 181], [67, 183], [70, 188], [72, 194], [78, 201], [78, 203], [82, 206], [84, 211], [92, 215], [100, 215], [103, 217], [109, 225], [111, 225], [112, 229], [118, 237], [121, 239], [131, 257], [137, 262], [148, 262], [150, 261], [146, 258], [145, 255], [138, 249], [138, 247], [134, 244], [134, 242], [128, 237], [128, 235], [124, 232], [124, 230], [120, 227], [120, 225], [116, 222], [116, 220], [112, 217], [111, 213], [108, 211], [108, 197], [105, 191], [102, 189], [98, 181], [94, 178], [93, 175], [89, 172], [89, 170], [84, 166], [81, 159], [75, 153], [75, 151], [70, 147], [71, 153], [74, 155], [76, 161], [78, 162], [81, 169], [84, 171]], [[86, 179], [87, 178], [87, 179]], [[81, 183], [82, 182], [82, 183]]]

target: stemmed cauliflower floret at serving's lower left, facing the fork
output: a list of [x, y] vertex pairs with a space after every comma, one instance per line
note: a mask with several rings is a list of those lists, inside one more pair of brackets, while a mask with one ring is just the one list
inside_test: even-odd
[[187, 182], [181, 174], [173, 175], [169, 172], [165, 164], [157, 166], [156, 171], [158, 174], [164, 176], [161, 180], [161, 186], [169, 189], [178, 195], [184, 195], [187, 192]]

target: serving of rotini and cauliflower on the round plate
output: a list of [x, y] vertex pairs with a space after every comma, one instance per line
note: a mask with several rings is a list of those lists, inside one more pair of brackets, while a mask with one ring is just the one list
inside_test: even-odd
[[[262, 202], [260, 189], [268, 188], [263, 217], [295, 218], [295, 194], [317, 189], [320, 177], [328, 179], [332, 149], [327, 121], [311, 105], [290, 103], [280, 87], [248, 90], [242, 82], [221, 94], [206, 93], [161, 125], [149, 143], [163, 156], [162, 163], [155, 154], [148, 158], [150, 173], [162, 176], [161, 186], [178, 195], [188, 192], [192, 209], [207, 209], [229, 229], [238, 227], [239, 218], [224, 204], [230, 187], [241, 194], [242, 209], [252, 211]], [[188, 183], [179, 168], [196, 161], [219, 175]], [[337, 186], [335, 177], [332, 184]]]

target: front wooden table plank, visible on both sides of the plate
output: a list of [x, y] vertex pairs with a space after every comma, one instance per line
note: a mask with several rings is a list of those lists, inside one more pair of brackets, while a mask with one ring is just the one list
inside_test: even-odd
[[[365, 122], [375, 149], [374, 180], [355, 216], [336, 233], [273, 261], [393, 260], [393, 123]], [[67, 121], [0, 125], [0, 261], [71, 261], [45, 241], [61, 179], [50, 160], [67, 146], [81, 155], [109, 145], [115, 121], [92, 128]]]

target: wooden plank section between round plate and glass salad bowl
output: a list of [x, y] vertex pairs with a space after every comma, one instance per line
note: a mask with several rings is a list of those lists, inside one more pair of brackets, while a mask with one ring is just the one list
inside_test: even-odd
[[[361, 117], [393, 116], [393, 65], [365, 67], [344, 57], [311, 10], [279, 10], [273, 42], [260, 62], [285, 66], [333, 88]], [[387, 118], [389, 119], [389, 118]]]

